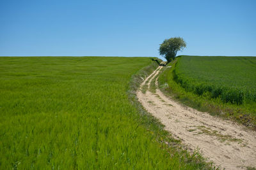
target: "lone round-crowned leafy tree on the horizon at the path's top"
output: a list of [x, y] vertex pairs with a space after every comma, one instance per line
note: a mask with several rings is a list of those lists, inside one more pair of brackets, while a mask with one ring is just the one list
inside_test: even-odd
[[159, 47], [160, 55], [164, 55], [167, 62], [171, 62], [175, 59], [177, 52], [183, 50], [186, 47], [186, 42], [183, 38], [174, 37], [170, 39], [164, 39]]

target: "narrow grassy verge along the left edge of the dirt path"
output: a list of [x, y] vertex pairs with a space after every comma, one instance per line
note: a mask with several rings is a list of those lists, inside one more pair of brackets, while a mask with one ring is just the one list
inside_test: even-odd
[[218, 167], [214, 166], [213, 162], [209, 162], [202, 156], [199, 149], [189, 152], [186, 146], [182, 145], [180, 140], [174, 139], [170, 132], [164, 130], [164, 125], [161, 124], [157, 118], [148, 113], [148, 111], [146, 111], [138, 101], [136, 91], [139, 89], [140, 84], [145, 80], [145, 78], [147, 78], [147, 76], [150, 75], [157, 67], [158, 64], [156, 62], [152, 62], [149, 66], [143, 67], [131, 77], [127, 94], [132, 105], [134, 105], [138, 110], [138, 122], [143, 125], [147, 131], [151, 131], [154, 138], [156, 138], [157, 143], [161, 145], [161, 148], [167, 150], [170, 153], [170, 156], [178, 153], [180, 155], [180, 159], [188, 164], [197, 166], [199, 169], [218, 169]]

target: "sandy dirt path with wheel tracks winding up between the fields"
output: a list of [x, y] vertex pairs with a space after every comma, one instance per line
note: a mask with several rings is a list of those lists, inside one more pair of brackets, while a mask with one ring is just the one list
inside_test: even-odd
[[[209, 113], [184, 107], [164, 96], [157, 83], [161, 69], [163, 67], [159, 66], [141, 83], [137, 96], [143, 107], [190, 150], [200, 148], [202, 155], [217, 166], [225, 169], [256, 167], [256, 132], [212, 117]], [[150, 82], [154, 83], [154, 80], [156, 92], [150, 92]]]

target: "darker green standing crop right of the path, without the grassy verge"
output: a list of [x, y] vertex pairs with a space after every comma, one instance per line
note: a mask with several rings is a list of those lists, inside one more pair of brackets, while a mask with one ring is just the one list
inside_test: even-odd
[[256, 102], [256, 57], [182, 56], [177, 63], [177, 81], [186, 90], [225, 103]]

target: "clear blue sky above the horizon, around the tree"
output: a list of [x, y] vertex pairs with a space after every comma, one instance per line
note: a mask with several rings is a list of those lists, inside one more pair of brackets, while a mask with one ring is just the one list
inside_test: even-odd
[[1, 56], [256, 56], [256, 1], [0, 1]]

